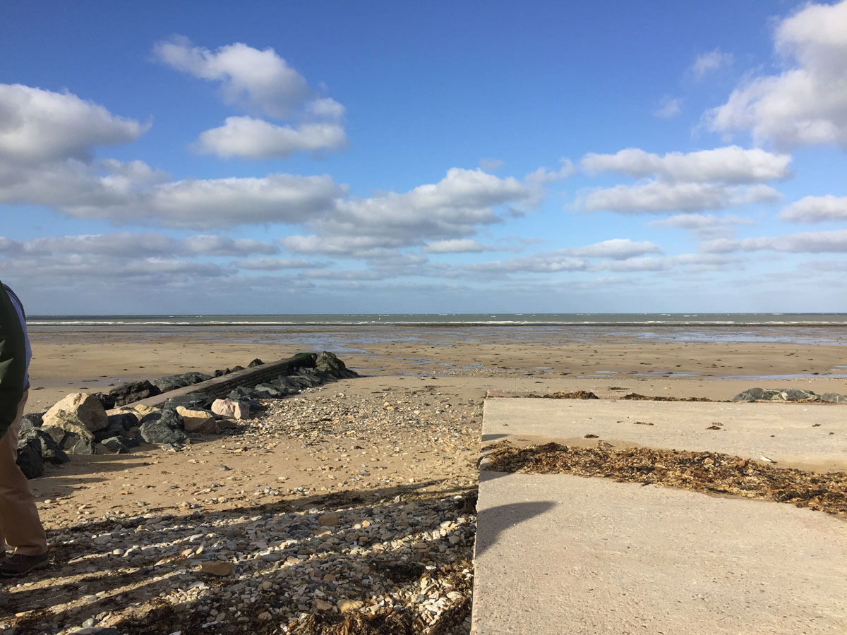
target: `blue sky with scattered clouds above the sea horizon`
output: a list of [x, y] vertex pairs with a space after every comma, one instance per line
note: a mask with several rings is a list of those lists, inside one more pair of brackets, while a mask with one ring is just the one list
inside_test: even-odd
[[30, 314], [847, 312], [847, 0], [0, 6]]

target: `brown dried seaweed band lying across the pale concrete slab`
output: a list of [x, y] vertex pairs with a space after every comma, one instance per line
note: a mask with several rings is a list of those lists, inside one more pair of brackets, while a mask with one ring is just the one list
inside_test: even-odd
[[574, 474], [620, 483], [656, 484], [704, 494], [729, 494], [808, 507], [847, 519], [847, 472], [806, 472], [762, 465], [717, 452], [651, 448], [582, 448], [548, 443], [490, 446], [484, 469], [496, 472]]

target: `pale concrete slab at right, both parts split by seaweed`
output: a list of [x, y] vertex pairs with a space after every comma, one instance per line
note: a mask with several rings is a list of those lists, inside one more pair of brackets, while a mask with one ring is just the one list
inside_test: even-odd
[[[805, 411], [818, 416], [815, 406], [780, 404], [488, 400], [483, 433], [596, 433], [741, 456], [745, 448], [789, 456], [801, 442], [794, 454], [810, 461], [818, 451], [838, 456], [828, 439], [805, 436], [819, 430]], [[838, 424], [843, 434], [847, 422], [836, 419], [847, 417], [834, 415], [847, 411], [822, 411], [821, 428]], [[729, 429], [699, 436], [715, 413]], [[634, 425], [645, 417], [654, 426]], [[745, 433], [743, 419], [755, 432]], [[478, 514], [476, 635], [847, 632], [847, 523], [834, 516], [604, 478], [503, 472], [481, 472]]]

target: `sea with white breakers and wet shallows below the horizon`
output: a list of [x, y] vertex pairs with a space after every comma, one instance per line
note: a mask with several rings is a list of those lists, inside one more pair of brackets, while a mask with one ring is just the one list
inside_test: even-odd
[[[847, 313], [324, 313], [32, 315], [30, 334], [186, 335], [343, 349], [359, 342], [654, 341], [847, 345]], [[249, 337], [245, 336], [249, 333]], [[334, 348], [331, 348], [334, 347]]]

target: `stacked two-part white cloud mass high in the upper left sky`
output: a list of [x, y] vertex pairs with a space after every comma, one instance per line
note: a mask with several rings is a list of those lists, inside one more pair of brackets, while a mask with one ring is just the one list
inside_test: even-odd
[[225, 102], [275, 119], [297, 119], [296, 124], [280, 125], [249, 116], [228, 117], [222, 126], [201, 133], [194, 144], [197, 152], [268, 159], [346, 146], [340, 124], [344, 107], [330, 97], [318, 97], [273, 48], [260, 51], [235, 42], [210, 51], [178, 36], [158, 42], [153, 54], [174, 69], [219, 82]]

